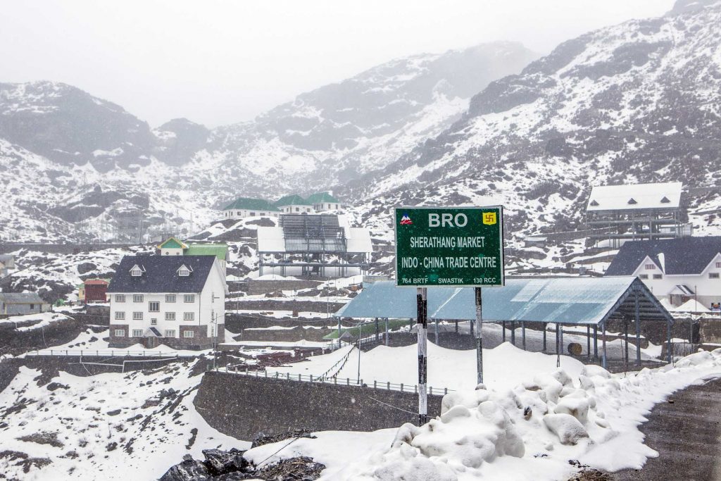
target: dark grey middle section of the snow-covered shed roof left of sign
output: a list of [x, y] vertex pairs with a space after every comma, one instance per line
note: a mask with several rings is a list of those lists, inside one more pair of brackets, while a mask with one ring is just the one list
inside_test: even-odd
[[286, 252], [346, 252], [345, 230], [338, 216], [280, 216]]

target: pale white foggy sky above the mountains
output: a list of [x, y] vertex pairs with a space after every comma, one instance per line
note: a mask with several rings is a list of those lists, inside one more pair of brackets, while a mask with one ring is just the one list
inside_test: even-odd
[[252, 120], [384, 61], [516, 40], [563, 40], [673, 0], [6, 1], [0, 82], [80, 87], [152, 126]]

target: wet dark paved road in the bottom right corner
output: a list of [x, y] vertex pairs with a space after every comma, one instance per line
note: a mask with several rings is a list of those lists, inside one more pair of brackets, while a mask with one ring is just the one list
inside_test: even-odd
[[641, 431], [659, 452], [614, 481], [721, 481], [721, 379], [691, 386], [656, 405]]

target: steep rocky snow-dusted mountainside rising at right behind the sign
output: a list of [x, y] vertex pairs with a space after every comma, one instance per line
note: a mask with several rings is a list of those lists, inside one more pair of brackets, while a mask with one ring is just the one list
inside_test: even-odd
[[696, 227], [717, 232], [720, 106], [721, 2], [679, 1], [492, 82], [451, 128], [343, 193], [376, 215], [503, 203], [518, 237], [578, 227], [593, 185], [673, 180], [689, 187]]

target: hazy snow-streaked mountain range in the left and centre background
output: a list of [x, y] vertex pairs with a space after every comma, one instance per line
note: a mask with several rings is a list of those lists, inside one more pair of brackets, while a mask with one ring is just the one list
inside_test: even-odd
[[0, 84], [0, 239], [117, 238], [138, 212], [193, 230], [238, 195], [328, 188], [441, 133], [536, 57], [492, 43], [401, 58], [213, 131], [186, 119], [151, 129], [66, 84]]

